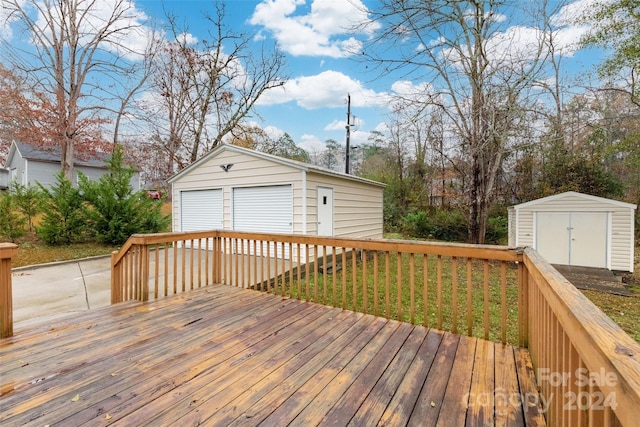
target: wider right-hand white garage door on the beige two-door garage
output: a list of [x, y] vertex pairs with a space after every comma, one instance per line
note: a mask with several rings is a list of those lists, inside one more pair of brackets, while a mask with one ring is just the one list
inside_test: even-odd
[[293, 233], [291, 185], [234, 188], [233, 229]]

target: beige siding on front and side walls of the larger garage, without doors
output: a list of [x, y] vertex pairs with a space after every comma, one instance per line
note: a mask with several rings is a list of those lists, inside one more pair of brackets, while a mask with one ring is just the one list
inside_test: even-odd
[[[233, 164], [225, 172], [221, 165]], [[333, 189], [333, 233], [336, 236], [380, 238], [383, 232], [384, 185], [323, 170], [312, 165], [222, 145], [176, 174], [172, 184], [174, 230], [180, 224], [180, 192], [221, 189], [224, 229], [232, 229], [234, 188], [291, 185], [294, 234], [316, 235], [317, 189]]]

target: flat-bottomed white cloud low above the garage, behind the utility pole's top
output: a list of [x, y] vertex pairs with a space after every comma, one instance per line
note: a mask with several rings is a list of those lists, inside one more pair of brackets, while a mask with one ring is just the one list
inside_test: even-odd
[[303, 76], [285, 82], [281, 88], [272, 89], [260, 98], [260, 105], [284, 104], [295, 101], [307, 110], [318, 108], [342, 108], [347, 94], [351, 94], [353, 107], [384, 105], [386, 95], [367, 89], [358, 80], [346, 74], [328, 70], [314, 76]]

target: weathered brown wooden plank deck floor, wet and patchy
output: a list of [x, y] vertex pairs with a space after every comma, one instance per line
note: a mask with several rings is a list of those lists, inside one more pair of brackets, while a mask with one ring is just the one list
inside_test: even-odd
[[527, 350], [230, 286], [0, 344], [3, 426], [544, 423]]

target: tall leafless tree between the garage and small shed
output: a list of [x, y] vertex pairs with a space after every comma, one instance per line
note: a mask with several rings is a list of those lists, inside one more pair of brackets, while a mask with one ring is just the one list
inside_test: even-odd
[[[496, 179], [547, 55], [540, 35], [547, 14], [527, 12], [498, 0], [382, 0], [370, 15], [381, 30], [358, 55], [381, 72], [426, 83], [419, 103], [440, 109], [457, 140], [450, 155], [462, 160], [473, 243], [484, 242]], [[519, 17], [520, 32], [506, 27], [506, 16]], [[526, 31], [534, 37], [524, 43]]]

